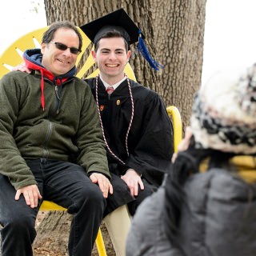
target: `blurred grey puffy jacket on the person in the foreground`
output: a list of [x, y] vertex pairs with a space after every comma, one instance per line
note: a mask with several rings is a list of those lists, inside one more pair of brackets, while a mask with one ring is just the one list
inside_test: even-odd
[[212, 169], [187, 180], [178, 237], [183, 253], [166, 238], [161, 187], [138, 208], [126, 256], [254, 256], [255, 158], [252, 162], [253, 168], [242, 171], [243, 178], [236, 172]]

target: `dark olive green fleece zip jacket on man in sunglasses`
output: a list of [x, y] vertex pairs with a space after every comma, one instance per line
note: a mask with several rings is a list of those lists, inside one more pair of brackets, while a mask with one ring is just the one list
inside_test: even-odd
[[87, 173], [110, 177], [97, 107], [90, 87], [72, 77], [62, 86], [41, 74], [13, 71], [0, 81], [0, 173], [17, 190], [37, 184], [27, 159], [70, 161], [75, 155]]

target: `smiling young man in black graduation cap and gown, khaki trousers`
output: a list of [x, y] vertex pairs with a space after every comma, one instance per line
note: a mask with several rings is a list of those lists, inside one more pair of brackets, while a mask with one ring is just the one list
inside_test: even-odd
[[91, 54], [100, 73], [86, 82], [98, 106], [114, 187], [104, 222], [117, 255], [125, 255], [130, 227], [126, 207], [134, 215], [143, 199], [161, 185], [170, 169], [173, 127], [160, 96], [124, 73], [130, 44], [138, 41], [139, 32], [126, 12], [114, 11], [81, 29], [94, 42]]

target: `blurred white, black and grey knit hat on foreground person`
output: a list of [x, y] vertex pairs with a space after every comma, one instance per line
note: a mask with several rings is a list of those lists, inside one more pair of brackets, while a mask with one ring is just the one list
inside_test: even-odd
[[191, 115], [196, 148], [256, 154], [256, 63], [218, 72], [198, 91]]

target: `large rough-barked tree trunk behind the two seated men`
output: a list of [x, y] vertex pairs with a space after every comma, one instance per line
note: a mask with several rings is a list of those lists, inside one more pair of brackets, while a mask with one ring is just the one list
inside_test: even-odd
[[[76, 26], [124, 8], [146, 35], [152, 57], [165, 66], [156, 72], [135, 54], [130, 64], [138, 82], [162, 95], [166, 106], [178, 106], [183, 126], [188, 125], [194, 92], [201, 83], [206, 0], [45, 0], [45, 6], [48, 24], [69, 20]], [[34, 248], [46, 254], [37, 255], [67, 255], [70, 218], [54, 212], [42, 219]], [[106, 231], [103, 237], [108, 255], [114, 255]]]

